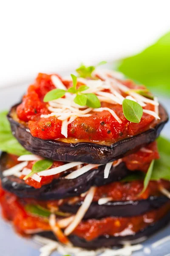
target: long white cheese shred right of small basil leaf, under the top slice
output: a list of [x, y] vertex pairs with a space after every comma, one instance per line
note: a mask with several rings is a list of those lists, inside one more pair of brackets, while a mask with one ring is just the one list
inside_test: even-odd
[[51, 169], [39, 172], [38, 175], [40, 175], [40, 176], [55, 175], [55, 174], [58, 174], [60, 172], [64, 172], [68, 169], [71, 169], [75, 166], [78, 166], [79, 164], [82, 164], [82, 162], [66, 163], [66, 164], [63, 164], [62, 166], [58, 166], [58, 167], [55, 167], [55, 168], [51, 168]]

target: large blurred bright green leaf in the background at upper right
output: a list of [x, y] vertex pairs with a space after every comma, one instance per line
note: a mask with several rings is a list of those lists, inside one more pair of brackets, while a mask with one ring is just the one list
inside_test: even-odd
[[139, 54], [119, 61], [117, 68], [154, 93], [170, 96], [170, 32]]

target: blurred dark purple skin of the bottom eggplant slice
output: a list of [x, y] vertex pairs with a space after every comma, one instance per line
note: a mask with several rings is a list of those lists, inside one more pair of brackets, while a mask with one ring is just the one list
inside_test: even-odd
[[[170, 212], [161, 218], [159, 221], [156, 221], [154, 224], [148, 225], [146, 228], [140, 230], [134, 235], [129, 236], [99, 236], [98, 238], [92, 241], [86, 241], [85, 239], [79, 238], [78, 236], [71, 235], [68, 236], [68, 239], [76, 247], [82, 247], [86, 249], [98, 249], [100, 247], [113, 247], [113, 246], [122, 246], [127, 242], [130, 244], [139, 244], [146, 240], [149, 236], [153, 235], [157, 231], [161, 230], [170, 222]], [[40, 236], [56, 240], [56, 237], [52, 232], [42, 232], [39, 233]]]

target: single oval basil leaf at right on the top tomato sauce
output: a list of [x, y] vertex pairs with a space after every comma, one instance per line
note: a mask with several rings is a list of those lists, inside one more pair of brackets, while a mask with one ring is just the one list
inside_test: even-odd
[[139, 105], [137, 102], [134, 102], [133, 100], [124, 99], [122, 106], [123, 113], [128, 121], [134, 123], [140, 122], [143, 115], [143, 109], [141, 105]]

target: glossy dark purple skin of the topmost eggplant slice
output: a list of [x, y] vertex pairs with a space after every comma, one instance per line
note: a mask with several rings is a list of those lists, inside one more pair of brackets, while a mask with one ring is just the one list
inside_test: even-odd
[[159, 116], [161, 120], [141, 133], [119, 140], [108, 145], [96, 143], [64, 143], [57, 140], [42, 140], [33, 137], [28, 127], [15, 121], [12, 113], [15, 113], [17, 105], [13, 106], [8, 113], [8, 121], [11, 125], [12, 134], [21, 145], [33, 154], [64, 162], [82, 162], [107, 164], [113, 160], [132, 154], [143, 145], [153, 142], [159, 136], [165, 123], [168, 121], [166, 110], [159, 105]]

